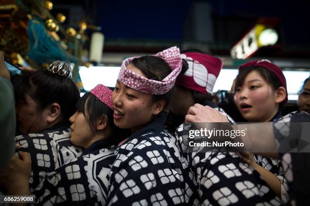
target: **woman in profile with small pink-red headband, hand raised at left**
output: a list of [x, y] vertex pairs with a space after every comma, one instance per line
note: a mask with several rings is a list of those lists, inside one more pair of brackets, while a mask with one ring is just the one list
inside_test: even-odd
[[[110, 170], [114, 162], [115, 144], [120, 142], [124, 130], [113, 124], [112, 91], [97, 85], [81, 97], [77, 111], [70, 117], [70, 141], [84, 148], [82, 155], [47, 175], [31, 192], [35, 204], [43, 205], [105, 205]], [[31, 165], [26, 152], [20, 152], [22, 160], [13, 158], [7, 168], [9, 194], [28, 195], [27, 176]], [[18, 173], [18, 168], [24, 168]], [[15, 186], [14, 186], [15, 185]]]

